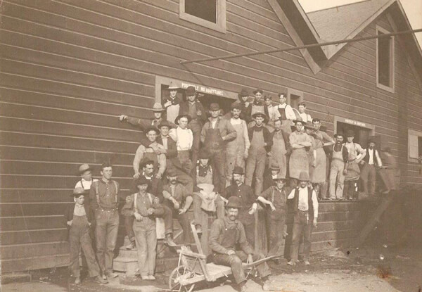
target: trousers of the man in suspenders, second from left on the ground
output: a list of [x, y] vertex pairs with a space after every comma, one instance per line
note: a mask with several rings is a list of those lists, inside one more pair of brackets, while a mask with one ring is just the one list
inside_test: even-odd
[[119, 212], [117, 210], [95, 211], [96, 253], [98, 265], [103, 273], [113, 272], [114, 250], [119, 231]]

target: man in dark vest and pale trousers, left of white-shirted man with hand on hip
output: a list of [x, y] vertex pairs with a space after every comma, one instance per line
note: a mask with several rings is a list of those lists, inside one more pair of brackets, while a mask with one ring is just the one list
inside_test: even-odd
[[334, 135], [335, 144], [331, 153], [330, 167], [330, 200], [343, 200], [343, 186], [345, 184], [345, 174], [347, 174], [347, 160], [349, 152], [343, 145], [343, 134]]

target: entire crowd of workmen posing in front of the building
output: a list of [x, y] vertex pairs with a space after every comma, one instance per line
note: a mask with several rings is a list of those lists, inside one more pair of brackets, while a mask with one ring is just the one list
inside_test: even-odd
[[[333, 153], [330, 198], [343, 198], [343, 181], [347, 193], [350, 182], [359, 179], [356, 166], [366, 153], [369, 153], [368, 165], [381, 166], [378, 152], [372, 148], [364, 151], [353, 143], [354, 135], [350, 132], [345, 135], [346, 143], [341, 133], [335, 135], [334, 141], [320, 131], [320, 120], [305, 113], [305, 103], [300, 103], [296, 115], [286, 104], [283, 93], [279, 94], [279, 105], [274, 106], [271, 96], [263, 96], [261, 89], [253, 91], [253, 101], [249, 100], [248, 90], [242, 89], [239, 100], [231, 104], [230, 112], [222, 115], [218, 103], [211, 103], [209, 110], [205, 110], [195, 87], [186, 89], [186, 101], [177, 96], [179, 90], [170, 83], [170, 96], [154, 104], [153, 119], [119, 117], [122, 122], [140, 127], [145, 135], [135, 153], [134, 182], [129, 196], [124, 198], [121, 212], [130, 242], [126, 248], [137, 248], [142, 279], [155, 279], [156, 218], [164, 220], [165, 243], [169, 246], [177, 246], [173, 238], [173, 219], [177, 218], [183, 230], [182, 243], [189, 246], [191, 228], [186, 212], [191, 205], [199, 233], [204, 212], [216, 213], [217, 220], [212, 223], [209, 236], [211, 258], [217, 264], [231, 266], [241, 290], [245, 284], [241, 262], [264, 257], [262, 253], [255, 253], [256, 248], [254, 250], [260, 240], [255, 238], [256, 224], [263, 224], [267, 232], [267, 256], [276, 259], [283, 254], [281, 246], [286, 236], [289, 199], [293, 200], [295, 215], [288, 264], [295, 265], [298, 261], [298, 246], [303, 235], [303, 260], [309, 265], [310, 238], [318, 218], [317, 193], [326, 186], [324, 146], [332, 148]], [[92, 277], [106, 281], [107, 277], [115, 277], [112, 264], [119, 226], [119, 185], [111, 179], [111, 165], [102, 165], [99, 180], [91, 178], [89, 165], [82, 165], [79, 171], [82, 179], [75, 188], [75, 206], [73, 213], [68, 211], [68, 217], [70, 213], [74, 218], [83, 213], [79, 209], [84, 204], [78, 200], [89, 194], [89, 207], [84, 208], [89, 224], [83, 229], [89, 231], [88, 215], [94, 214], [96, 256], [102, 277], [98, 276], [95, 258], [91, 259], [89, 269]], [[369, 173], [372, 173], [371, 167]], [[372, 184], [370, 186], [372, 188]], [[257, 210], [264, 216], [258, 217]], [[263, 221], [257, 222], [258, 218]], [[71, 230], [79, 228], [72, 220], [67, 224]], [[89, 241], [86, 235], [83, 241], [81, 236], [73, 240], [72, 269], [77, 281], [75, 257], [79, 248], [76, 248], [82, 245], [85, 252], [84, 246]], [[235, 250], [237, 243], [242, 253]], [[265, 263], [258, 270], [264, 278], [269, 275]]]

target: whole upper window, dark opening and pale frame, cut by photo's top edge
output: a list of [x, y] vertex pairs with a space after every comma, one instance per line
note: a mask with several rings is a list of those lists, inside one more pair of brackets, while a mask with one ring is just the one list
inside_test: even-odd
[[191, 23], [226, 32], [226, 0], [180, 0], [179, 16]]

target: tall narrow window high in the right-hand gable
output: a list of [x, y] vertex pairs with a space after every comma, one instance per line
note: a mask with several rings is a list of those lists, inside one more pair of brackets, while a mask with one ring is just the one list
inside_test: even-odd
[[[388, 34], [381, 27], [376, 34]], [[376, 86], [394, 92], [394, 37], [376, 39]]]

